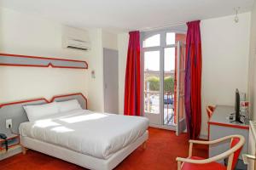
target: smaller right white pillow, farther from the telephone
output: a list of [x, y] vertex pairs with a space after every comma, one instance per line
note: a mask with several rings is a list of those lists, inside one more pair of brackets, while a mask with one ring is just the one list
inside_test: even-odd
[[60, 112], [81, 110], [82, 107], [77, 99], [56, 102]]

